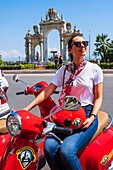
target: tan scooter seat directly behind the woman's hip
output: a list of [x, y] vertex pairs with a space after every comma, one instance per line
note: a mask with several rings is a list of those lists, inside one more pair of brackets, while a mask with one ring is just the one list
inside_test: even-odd
[[106, 112], [99, 111], [98, 112], [98, 129], [90, 142], [96, 138], [108, 125], [109, 117]]

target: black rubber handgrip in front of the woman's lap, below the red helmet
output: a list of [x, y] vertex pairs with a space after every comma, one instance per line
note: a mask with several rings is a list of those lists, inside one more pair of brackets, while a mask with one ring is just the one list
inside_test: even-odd
[[54, 127], [54, 132], [56, 133], [65, 133], [65, 134], [68, 134], [68, 135], [71, 135], [73, 133], [73, 130], [72, 129], [69, 129], [69, 128], [63, 128], [63, 127]]

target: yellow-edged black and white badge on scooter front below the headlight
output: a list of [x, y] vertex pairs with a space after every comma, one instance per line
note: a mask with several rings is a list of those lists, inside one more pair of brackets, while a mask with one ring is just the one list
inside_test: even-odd
[[35, 152], [32, 148], [26, 146], [17, 150], [17, 159], [23, 169], [26, 169], [32, 162], [36, 160]]

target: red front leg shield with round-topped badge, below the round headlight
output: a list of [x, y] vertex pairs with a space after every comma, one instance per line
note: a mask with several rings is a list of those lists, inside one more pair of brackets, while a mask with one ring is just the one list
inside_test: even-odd
[[2, 159], [0, 170], [31, 170], [39, 164], [38, 147], [28, 139], [15, 137]]

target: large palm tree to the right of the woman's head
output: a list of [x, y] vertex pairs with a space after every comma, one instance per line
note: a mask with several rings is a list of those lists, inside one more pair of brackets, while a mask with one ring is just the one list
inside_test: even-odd
[[96, 49], [93, 53], [93, 55], [100, 56], [101, 61], [108, 61], [108, 50], [110, 46], [110, 38], [108, 38], [107, 34], [97, 35], [96, 37], [96, 43], [94, 44], [96, 46]]

